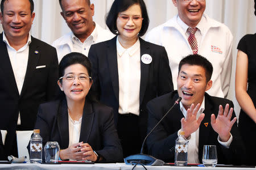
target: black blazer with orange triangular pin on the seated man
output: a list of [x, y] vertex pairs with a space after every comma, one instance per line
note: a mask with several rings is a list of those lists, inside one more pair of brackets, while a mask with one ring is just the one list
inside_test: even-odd
[[[148, 102], [148, 131], [157, 124], [178, 97], [177, 91], [174, 91]], [[213, 113], [217, 117], [218, 106], [222, 105], [225, 107], [227, 103], [230, 108], [234, 108], [232, 101], [220, 97], [213, 97], [205, 92], [205, 110], [203, 112], [205, 117], [199, 129], [200, 163], [202, 163], [204, 145], [217, 146], [218, 164], [242, 164], [244, 161], [245, 148], [238, 132], [237, 122], [235, 122], [230, 131], [233, 135], [233, 141], [229, 148], [224, 148], [220, 145], [217, 141], [218, 134], [210, 124], [210, 115]], [[232, 119], [235, 116], [236, 114], [233, 112]], [[175, 140], [177, 138], [177, 131], [181, 129], [180, 120], [183, 117], [183, 113], [180, 111], [180, 105], [177, 104], [148, 137], [147, 146], [152, 156], [162, 159], [165, 162], [174, 162]], [[208, 123], [208, 125], [205, 126], [205, 123]]]

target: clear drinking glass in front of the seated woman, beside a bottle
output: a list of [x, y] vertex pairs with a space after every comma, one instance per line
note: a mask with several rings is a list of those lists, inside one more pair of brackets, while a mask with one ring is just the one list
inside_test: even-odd
[[46, 163], [58, 163], [60, 146], [58, 142], [47, 142], [44, 146]]

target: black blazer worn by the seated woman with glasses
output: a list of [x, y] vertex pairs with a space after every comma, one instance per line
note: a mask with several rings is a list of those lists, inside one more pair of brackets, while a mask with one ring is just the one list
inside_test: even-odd
[[[67, 101], [56, 100], [41, 104], [35, 129], [40, 129], [43, 147], [48, 141], [56, 141], [60, 149], [68, 148]], [[122, 146], [114, 126], [112, 108], [99, 103], [91, 103], [89, 100], [85, 101], [79, 142], [89, 143], [97, 154], [105, 158], [102, 162], [122, 162]]]

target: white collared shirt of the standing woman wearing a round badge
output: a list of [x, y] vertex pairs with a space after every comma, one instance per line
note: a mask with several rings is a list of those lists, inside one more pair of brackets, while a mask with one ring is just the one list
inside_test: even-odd
[[128, 49], [122, 47], [117, 37], [117, 65], [119, 80], [120, 114], [139, 115], [139, 90], [141, 84], [141, 44], [139, 39]]

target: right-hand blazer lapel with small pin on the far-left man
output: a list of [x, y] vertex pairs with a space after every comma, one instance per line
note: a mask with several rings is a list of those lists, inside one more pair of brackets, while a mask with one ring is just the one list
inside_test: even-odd
[[22, 91], [20, 93], [20, 97], [24, 94], [27, 88], [27, 84], [30, 83], [29, 78], [33, 78], [35, 73], [36, 64], [38, 63], [38, 59], [40, 58], [40, 50], [39, 46], [35, 44], [34, 37], [31, 36], [31, 43], [29, 45], [29, 53], [28, 53], [28, 62], [27, 62], [27, 70], [24, 78], [24, 83], [22, 86]]

